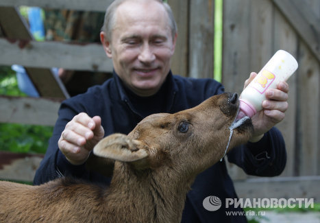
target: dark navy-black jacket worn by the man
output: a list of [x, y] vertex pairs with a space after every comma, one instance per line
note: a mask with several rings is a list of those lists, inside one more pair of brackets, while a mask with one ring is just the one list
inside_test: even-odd
[[[49, 148], [36, 172], [34, 184], [40, 185], [66, 175], [110, 183], [109, 178], [86, 170], [84, 165], [71, 165], [58, 149], [61, 132], [79, 113], [87, 113], [90, 117], [99, 115], [106, 136], [114, 132], [127, 134], [147, 115], [176, 113], [223, 92], [223, 86], [215, 80], [183, 78], [169, 73], [156, 95], [141, 98], [126, 89], [114, 73], [114, 78], [101, 86], [93, 86], [86, 93], [62, 102]], [[281, 133], [272, 128], [258, 143], [247, 143], [234, 148], [227, 154], [227, 159], [243, 168], [247, 174], [276, 176], [282, 172], [286, 163], [284, 140]], [[217, 211], [204, 209], [203, 201], [208, 196], [220, 198], [222, 207]], [[227, 216], [225, 211], [234, 210], [230, 207], [225, 209], [225, 198], [236, 198], [236, 192], [223, 159], [197, 176], [186, 198], [182, 222], [246, 222], [245, 216]]]

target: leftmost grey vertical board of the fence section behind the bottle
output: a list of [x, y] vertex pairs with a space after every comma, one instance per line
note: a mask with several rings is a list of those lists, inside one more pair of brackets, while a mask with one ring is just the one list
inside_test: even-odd
[[[250, 0], [223, 1], [222, 83], [225, 91], [241, 93], [250, 70]], [[232, 179], [247, 175], [238, 166], [228, 163]]]

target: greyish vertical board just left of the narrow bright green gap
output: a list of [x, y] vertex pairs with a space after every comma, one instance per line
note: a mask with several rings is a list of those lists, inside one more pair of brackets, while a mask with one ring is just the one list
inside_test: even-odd
[[191, 0], [189, 21], [189, 76], [213, 78], [214, 0]]

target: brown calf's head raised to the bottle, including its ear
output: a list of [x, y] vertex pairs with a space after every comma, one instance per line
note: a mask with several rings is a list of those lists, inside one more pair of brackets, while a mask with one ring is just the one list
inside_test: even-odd
[[[130, 134], [102, 139], [93, 152], [130, 163], [134, 169], [169, 167], [193, 176], [223, 157], [237, 113], [236, 94], [215, 95], [179, 113], [150, 115]], [[252, 130], [251, 119], [247, 118], [233, 130], [228, 148], [245, 143]]]

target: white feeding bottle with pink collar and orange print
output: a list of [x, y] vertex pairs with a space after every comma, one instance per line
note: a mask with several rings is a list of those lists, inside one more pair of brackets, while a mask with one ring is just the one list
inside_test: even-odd
[[252, 117], [262, 110], [267, 89], [276, 89], [278, 83], [288, 80], [297, 68], [297, 60], [291, 54], [278, 50], [241, 93], [238, 119]]

